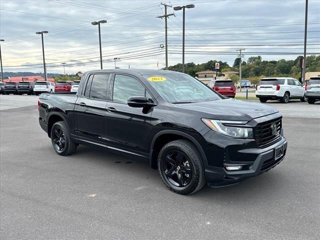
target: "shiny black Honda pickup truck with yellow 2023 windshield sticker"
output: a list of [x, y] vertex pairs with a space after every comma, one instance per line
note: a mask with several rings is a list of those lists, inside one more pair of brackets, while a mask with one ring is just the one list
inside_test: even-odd
[[42, 93], [38, 109], [59, 155], [85, 144], [136, 157], [180, 194], [256, 176], [287, 148], [275, 108], [226, 98], [174, 71], [88, 71], [75, 94]]

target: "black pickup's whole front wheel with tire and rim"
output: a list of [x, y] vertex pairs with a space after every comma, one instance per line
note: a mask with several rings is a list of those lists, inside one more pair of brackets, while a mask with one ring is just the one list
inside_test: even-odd
[[165, 144], [159, 152], [157, 164], [162, 181], [176, 193], [192, 194], [205, 183], [201, 157], [188, 140]]

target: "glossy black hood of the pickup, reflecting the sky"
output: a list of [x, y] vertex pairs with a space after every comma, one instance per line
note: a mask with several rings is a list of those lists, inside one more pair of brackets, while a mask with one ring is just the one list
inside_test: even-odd
[[179, 108], [198, 111], [201, 117], [218, 120], [252, 120], [253, 118], [278, 112], [266, 104], [235, 100], [233, 98], [176, 104]]

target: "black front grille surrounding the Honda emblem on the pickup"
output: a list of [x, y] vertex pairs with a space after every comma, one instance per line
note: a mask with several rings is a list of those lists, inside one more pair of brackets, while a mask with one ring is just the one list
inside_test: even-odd
[[[271, 125], [275, 123], [276, 133], [272, 134]], [[258, 123], [254, 127], [254, 139], [259, 147], [266, 147], [280, 139], [281, 117]]]

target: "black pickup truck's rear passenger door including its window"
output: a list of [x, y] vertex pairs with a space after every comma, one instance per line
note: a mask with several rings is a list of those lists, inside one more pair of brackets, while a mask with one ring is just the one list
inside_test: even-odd
[[[110, 74], [90, 74], [78, 92], [76, 121], [79, 139], [105, 146], [105, 106]], [[81, 93], [81, 94], [80, 94]]]

